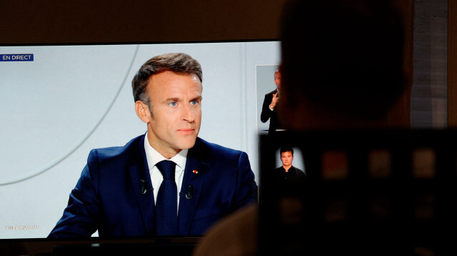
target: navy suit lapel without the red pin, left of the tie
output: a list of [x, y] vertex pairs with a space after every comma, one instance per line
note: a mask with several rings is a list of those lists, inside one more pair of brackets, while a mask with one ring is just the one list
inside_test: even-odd
[[[139, 145], [131, 152], [130, 159], [134, 160], [129, 164], [129, 173], [144, 227], [147, 230], [148, 235], [154, 235], [154, 193], [150, 189], [152, 188], [152, 183], [151, 175], [149, 175], [148, 162], [146, 160], [146, 152], [144, 150], [144, 137], [145, 136], [139, 140]], [[141, 180], [144, 180], [143, 185], [141, 185]], [[141, 187], [144, 185], [146, 186], [146, 193], [142, 194]]]

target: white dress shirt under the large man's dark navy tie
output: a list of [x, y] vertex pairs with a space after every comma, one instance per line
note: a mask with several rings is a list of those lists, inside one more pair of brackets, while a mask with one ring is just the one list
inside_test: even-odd
[[176, 163], [174, 180], [176, 182], [176, 188], [178, 188], [178, 198], [176, 198], [176, 200], [178, 202], [179, 208], [179, 192], [181, 191], [181, 185], [183, 183], [184, 169], [186, 168], [187, 152], [189, 152], [189, 149], [181, 150], [181, 152], [179, 152], [173, 158], [166, 159], [163, 155], [157, 152], [157, 150], [152, 148], [151, 144], [149, 144], [148, 133], [146, 133], [146, 137], [144, 138], [144, 150], [146, 151], [146, 160], [148, 161], [152, 188], [154, 188], [154, 203], [157, 201], [157, 193], [159, 193], [160, 185], [162, 180], [164, 180], [164, 176], [162, 176], [159, 168], [157, 168], [156, 163], [159, 163], [161, 160], [171, 160]]

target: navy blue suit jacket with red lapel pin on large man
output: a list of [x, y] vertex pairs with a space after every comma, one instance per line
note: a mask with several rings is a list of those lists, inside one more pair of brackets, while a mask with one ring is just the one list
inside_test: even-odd
[[[144, 139], [141, 135], [124, 147], [91, 150], [49, 237], [90, 237], [96, 230], [100, 237], [154, 235], [154, 193]], [[194, 191], [186, 199], [189, 185]], [[203, 235], [225, 215], [256, 203], [257, 195], [246, 153], [197, 138], [187, 155], [177, 235]]]

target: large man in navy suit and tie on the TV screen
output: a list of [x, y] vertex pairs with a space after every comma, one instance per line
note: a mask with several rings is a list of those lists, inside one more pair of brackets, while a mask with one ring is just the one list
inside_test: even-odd
[[201, 81], [199, 62], [184, 53], [141, 66], [132, 88], [146, 134], [91, 150], [49, 237], [202, 235], [257, 202], [248, 155], [197, 137]]

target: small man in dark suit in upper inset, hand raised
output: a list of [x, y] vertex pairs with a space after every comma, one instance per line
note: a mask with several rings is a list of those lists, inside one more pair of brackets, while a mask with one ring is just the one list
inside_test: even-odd
[[281, 130], [275, 109], [276, 105], [279, 102], [279, 94], [281, 93], [281, 72], [278, 70], [274, 72], [274, 83], [276, 84], [276, 89], [265, 94], [265, 98], [263, 99], [262, 112], [260, 115], [260, 120], [262, 123], [266, 123], [268, 119], [270, 120], [268, 133], [275, 132], [276, 130]]

